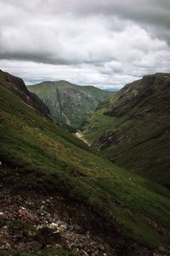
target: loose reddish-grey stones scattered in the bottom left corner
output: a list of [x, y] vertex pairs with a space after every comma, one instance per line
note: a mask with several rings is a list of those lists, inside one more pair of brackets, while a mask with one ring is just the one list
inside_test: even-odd
[[108, 252], [107, 244], [62, 216], [61, 205], [65, 205], [62, 196], [15, 195], [17, 179], [7, 177], [3, 168], [0, 171], [0, 253], [10, 250], [31, 253], [53, 247], [65, 248], [75, 255], [113, 255], [114, 252]]

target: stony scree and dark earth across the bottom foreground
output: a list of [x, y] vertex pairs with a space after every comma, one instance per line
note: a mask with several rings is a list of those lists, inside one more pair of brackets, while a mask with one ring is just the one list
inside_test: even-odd
[[[82, 222], [87, 221], [87, 229], [74, 221], [71, 212], [77, 212], [77, 205], [66, 204], [61, 195], [44, 195], [42, 191], [30, 193], [29, 190], [20, 193], [18, 183], [25, 186], [25, 178], [21, 179], [17, 172], [11, 177], [6, 166], [0, 166], [0, 255], [121, 255], [116, 247], [111, 248], [88, 230], [89, 218], [91, 222], [95, 220], [94, 216], [87, 218], [85, 209], [80, 218]], [[52, 251], [46, 251], [48, 249]], [[65, 253], [58, 254], [63, 250]], [[136, 250], [139, 253], [138, 247]], [[128, 255], [126, 249], [122, 255]], [[135, 255], [167, 256], [170, 250], [160, 247], [150, 252], [143, 248], [142, 254]]]

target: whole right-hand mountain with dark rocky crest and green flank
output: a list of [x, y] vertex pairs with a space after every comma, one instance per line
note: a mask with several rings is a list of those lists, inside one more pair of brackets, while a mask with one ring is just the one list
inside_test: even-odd
[[170, 74], [127, 84], [100, 104], [83, 136], [116, 165], [170, 186]]

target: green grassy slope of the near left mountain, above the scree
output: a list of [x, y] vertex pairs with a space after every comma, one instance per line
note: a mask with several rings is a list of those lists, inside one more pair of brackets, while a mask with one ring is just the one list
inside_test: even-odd
[[[145, 256], [157, 247], [167, 247], [168, 189], [125, 172], [42, 117], [20, 96], [25, 85], [19, 93], [15, 84], [20, 79], [14, 83], [13, 78], [0, 73], [1, 173], [4, 168], [8, 177], [25, 179], [25, 183], [14, 183], [12, 193], [26, 198], [31, 191], [43, 196], [53, 192], [62, 195], [65, 203], [77, 202], [72, 217], [67, 212], [69, 219], [74, 216], [85, 230], [90, 223], [88, 228], [115, 250], [111, 255]], [[77, 211], [82, 211], [81, 218]]]

